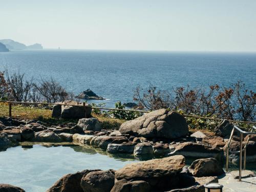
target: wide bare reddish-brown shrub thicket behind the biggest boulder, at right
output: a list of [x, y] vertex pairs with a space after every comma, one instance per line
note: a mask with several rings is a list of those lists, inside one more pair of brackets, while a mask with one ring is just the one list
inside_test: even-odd
[[231, 120], [255, 120], [256, 94], [246, 89], [245, 84], [238, 81], [229, 87], [218, 84], [208, 89], [173, 88], [173, 92], [157, 90], [150, 86], [145, 91], [137, 87], [134, 101], [143, 109], [158, 110], [168, 108], [181, 110], [185, 114], [216, 116]]

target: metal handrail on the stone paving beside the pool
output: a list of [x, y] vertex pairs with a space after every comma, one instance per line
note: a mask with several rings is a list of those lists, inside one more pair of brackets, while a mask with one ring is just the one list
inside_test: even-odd
[[[240, 132], [240, 151], [230, 151], [230, 153], [239, 153], [240, 156], [239, 156], [239, 181], [241, 181], [241, 178], [242, 178], [242, 158], [243, 158], [243, 152], [244, 152], [244, 170], [246, 168], [246, 147], [247, 147], [247, 144], [250, 140], [250, 137], [251, 135], [256, 135], [256, 132], [253, 132], [253, 131], [256, 131], [256, 126], [253, 125], [250, 129], [250, 132], [246, 132], [246, 131], [243, 131], [242, 129], [240, 129], [239, 126], [237, 125], [233, 125], [233, 129], [231, 131], [231, 134], [230, 134], [230, 137], [229, 137], [229, 140], [228, 140], [228, 143], [227, 143], [227, 147], [226, 147], [226, 172], [228, 172], [228, 153], [229, 153], [229, 145], [230, 145], [230, 142], [231, 142], [231, 139], [233, 137], [233, 134], [234, 134], [234, 130], [237, 130]], [[243, 135], [249, 135], [248, 136], [248, 139], [244, 145], [244, 148], [243, 148]]]

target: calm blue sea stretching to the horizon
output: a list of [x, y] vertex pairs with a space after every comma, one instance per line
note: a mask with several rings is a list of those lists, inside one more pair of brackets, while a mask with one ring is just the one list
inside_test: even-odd
[[256, 53], [26, 50], [0, 53], [0, 70], [5, 67], [35, 79], [53, 77], [76, 94], [90, 88], [107, 106], [132, 102], [136, 87], [150, 84], [171, 91], [242, 80], [256, 91]]

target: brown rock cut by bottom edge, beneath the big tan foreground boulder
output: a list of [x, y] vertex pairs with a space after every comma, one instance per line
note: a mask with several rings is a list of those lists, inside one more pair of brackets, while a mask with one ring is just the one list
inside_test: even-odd
[[150, 190], [150, 184], [145, 181], [127, 181], [122, 179], [115, 183], [111, 192], [148, 192]]

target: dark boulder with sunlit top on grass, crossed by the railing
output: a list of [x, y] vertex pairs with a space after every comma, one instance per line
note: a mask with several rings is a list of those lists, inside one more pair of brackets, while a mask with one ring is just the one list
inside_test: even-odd
[[[70, 104], [70, 105], [60, 105], [60, 104]], [[78, 106], [71, 106], [78, 105]], [[91, 117], [91, 108], [86, 108], [84, 111], [83, 103], [76, 101], [63, 101], [57, 102], [53, 106], [52, 117], [61, 117], [63, 119], [80, 119], [84, 117]]]

